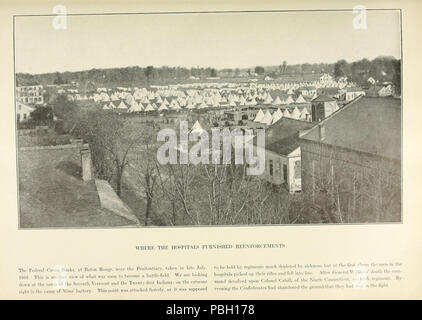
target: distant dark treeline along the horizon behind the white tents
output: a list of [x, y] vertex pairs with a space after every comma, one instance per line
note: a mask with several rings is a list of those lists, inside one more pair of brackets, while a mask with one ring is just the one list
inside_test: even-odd
[[354, 62], [340, 60], [336, 63], [303, 63], [289, 65], [282, 61], [278, 66], [255, 66], [243, 69], [221, 69], [214, 68], [184, 68], [184, 67], [125, 67], [110, 69], [91, 69], [77, 72], [53, 72], [44, 74], [18, 73], [16, 76], [17, 85], [33, 84], [71, 84], [77, 82], [89, 89], [107, 85], [149, 85], [176, 83], [188, 80], [189, 77], [242, 77], [252, 74], [259, 76], [270, 76], [274, 79], [286, 75], [322, 74], [329, 73], [334, 77], [347, 76], [357, 83], [366, 83], [369, 77], [384, 82], [390, 81], [400, 83], [400, 60], [394, 57], [378, 57], [374, 60], [362, 59]]

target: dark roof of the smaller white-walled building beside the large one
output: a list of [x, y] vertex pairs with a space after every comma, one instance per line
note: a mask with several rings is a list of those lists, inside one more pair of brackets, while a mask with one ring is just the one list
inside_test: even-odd
[[299, 147], [299, 132], [313, 126], [307, 121], [281, 118], [265, 133], [265, 149], [281, 155], [288, 155]]

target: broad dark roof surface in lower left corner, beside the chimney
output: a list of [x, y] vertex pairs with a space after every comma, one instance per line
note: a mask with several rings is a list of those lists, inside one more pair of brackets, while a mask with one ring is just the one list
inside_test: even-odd
[[81, 179], [78, 149], [19, 151], [18, 162], [22, 228], [132, 224], [101, 208], [94, 182]]

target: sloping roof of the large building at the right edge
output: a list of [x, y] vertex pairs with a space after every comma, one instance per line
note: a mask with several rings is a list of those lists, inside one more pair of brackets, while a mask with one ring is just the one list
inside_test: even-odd
[[301, 134], [302, 139], [351, 150], [401, 159], [401, 100], [392, 97], [360, 97]]

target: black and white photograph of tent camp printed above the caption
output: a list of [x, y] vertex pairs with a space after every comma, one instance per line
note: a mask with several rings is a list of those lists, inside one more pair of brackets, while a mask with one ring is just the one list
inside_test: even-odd
[[13, 23], [19, 229], [403, 222], [400, 10]]

